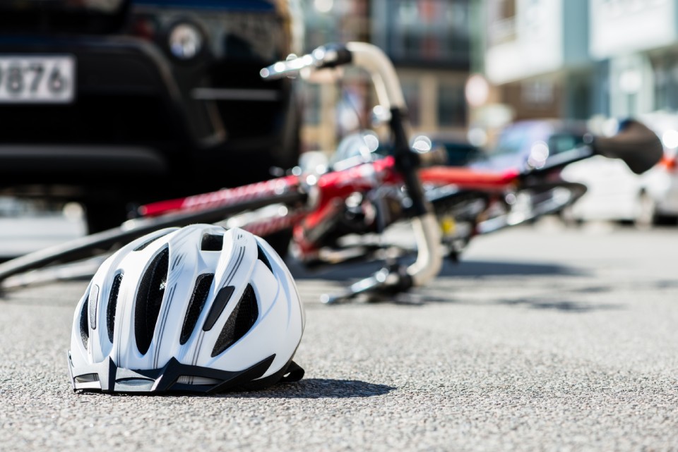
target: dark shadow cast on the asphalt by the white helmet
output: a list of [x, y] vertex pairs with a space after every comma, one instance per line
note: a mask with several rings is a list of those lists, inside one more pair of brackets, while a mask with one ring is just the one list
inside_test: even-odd
[[365, 398], [384, 396], [396, 388], [360, 380], [325, 378], [302, 379], [296, 383], [277, 384], [262, 391], [223, 393], [222, 398]]

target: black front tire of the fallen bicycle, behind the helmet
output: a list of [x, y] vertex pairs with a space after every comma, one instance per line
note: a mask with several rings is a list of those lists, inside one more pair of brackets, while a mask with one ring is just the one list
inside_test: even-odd
[[266, 207], [270, 204], [295, 204], [304, 202], [307, 195], [300, 192], [282, 193], [265, 200], [249, 200], [238, 204], [188, 213], [173, 213], [152, 218], [141, 218], [127, 221], [117, 228], [69, 240], [65, 243], [31, 252], [0, 264], [0, 283], [10, 276], [45, 267], [59, 262], [60, 264], [75, 262], [78, 259], [92, 257], [97, 252], [107, 252], [119, 243], [127, 243], [157, 229], [172, 226], [187, 226], [194, 223], [215, 223], [227, 216], [246, 212], [247, 210]]

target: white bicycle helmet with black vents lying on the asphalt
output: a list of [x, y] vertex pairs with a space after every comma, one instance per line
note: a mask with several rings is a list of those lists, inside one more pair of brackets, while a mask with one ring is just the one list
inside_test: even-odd
[[197, 224], [134, 240], [106, 259], [73, 318], [74, 390], [259, 389], [298, 381], [304, 311], [265, 240]]

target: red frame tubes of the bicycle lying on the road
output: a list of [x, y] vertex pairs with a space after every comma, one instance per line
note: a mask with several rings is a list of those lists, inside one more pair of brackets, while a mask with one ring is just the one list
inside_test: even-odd
[[[503, 193], [514, 188], [518, 181], [518, 172], [513, 170], [494, 173], [437, 166], [422, 169], [419, 175], [423, 183], [455, 185], [463, 190], [479, 190], [482, 193]], [[343, 207], [347, 197], [354, 193], [369, 193], [384, 185], [403, 185], [403, 178], [396, 169], [393, 157], [320, 176], [285, 176], [239, 188], [155, 202], [141, 206], [139, 212], [143, 216], [153, 217], [232, 205], [245, 209], [245, 203], [249, 203], [251, 208], [287, 204], [290, 209], [283, 216], [269, 216], [260, 221], [241, 224], [240, 227], [266, 236], [299, 225], [295, 233], [297, 245], [302, 252], [311, 252], [315, 248], [314, 240], [309, 240], [307, 236], [316, 234], [315, 231], [321, 229], [323, 223], [332, 221], [333, 215]], [[308, 200], [311, 202], [307, 202]], [[297, 207], [293, 208], [295, 204]]]

